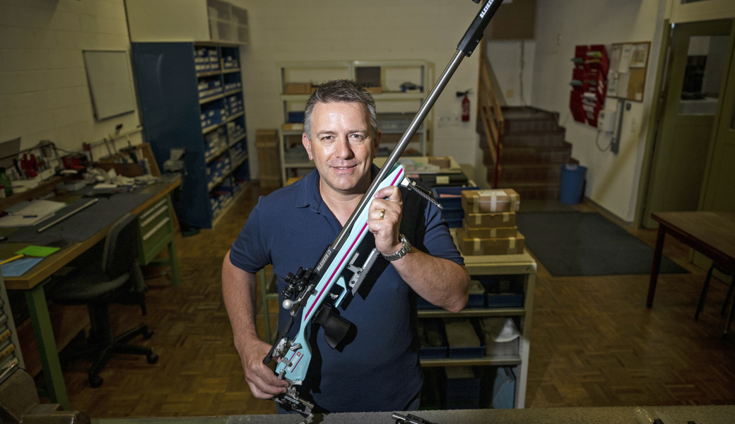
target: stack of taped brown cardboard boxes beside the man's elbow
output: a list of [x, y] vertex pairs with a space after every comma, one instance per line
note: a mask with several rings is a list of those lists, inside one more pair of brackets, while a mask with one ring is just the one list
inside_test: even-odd
[[463, 191], [465, 219], [456, 232], [462, 254], [522, 254], [524, 239], [515, 226], [519, 204], [518, 193], [512, 189]]

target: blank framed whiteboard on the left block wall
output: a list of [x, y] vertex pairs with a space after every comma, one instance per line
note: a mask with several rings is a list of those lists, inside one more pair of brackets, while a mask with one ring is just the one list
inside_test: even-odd
[[128, 52], [84, 50], [82, 55], [97, 121], [134, 112]]

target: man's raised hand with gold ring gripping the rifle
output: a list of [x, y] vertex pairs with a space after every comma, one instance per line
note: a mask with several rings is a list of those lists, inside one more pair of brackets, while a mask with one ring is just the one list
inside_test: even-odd
[[381, 254], [395, 254], [401, 249], [398, 236], [403, 209], [404, 202], [398, 187], [385, 187], [375, 193], [375, 200], [368, 212], [368, 227], [375, 235], [375, 247]]

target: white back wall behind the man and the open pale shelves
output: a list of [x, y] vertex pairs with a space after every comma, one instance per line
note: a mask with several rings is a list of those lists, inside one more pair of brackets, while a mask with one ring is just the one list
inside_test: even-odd
[[[244, 49], [243, 87], [248, 148], [256, 129], [284, 121], [277, 62], [298, 60], [429, 60], [439, 76], [478, 12], [471, 1], [446, 0], [234, 0], [248, 10], [251, 43]], [[460, 110], [456, 91], [477, 90], [478, 54], [466, 58], [434, 106], [434, 117]], [[435, 128], [434, 154], [475, 164], [477, 96], [472, 116], [456, 127]], [[434, 120], [436, 125], [436, 119]], [[251, 158], [255, 155], [251, 155]], [[251, 173], [257, 167], [251, 162]]]

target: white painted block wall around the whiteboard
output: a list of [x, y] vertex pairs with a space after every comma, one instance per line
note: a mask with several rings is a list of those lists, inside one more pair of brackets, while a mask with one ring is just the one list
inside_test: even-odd
[[78, 150], [118, 123], [135, 129], [137, 112], [95, 121], [82, 60], [83, 49], [129, 48], [123, 0], [0, 0], [0, 142]]

